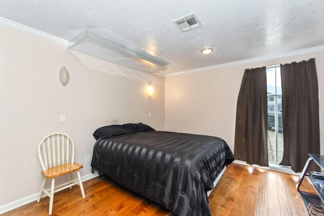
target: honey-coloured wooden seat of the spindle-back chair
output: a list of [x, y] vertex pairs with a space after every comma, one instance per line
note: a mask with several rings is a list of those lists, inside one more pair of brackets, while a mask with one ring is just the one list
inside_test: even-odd
[[82, 167], [83, 165], [78, 163], [65, 163], [63, 165], [49, 168], [46, 171], [42, 171], [42, 175], [47, 179], [55, 178], [79, 170]]

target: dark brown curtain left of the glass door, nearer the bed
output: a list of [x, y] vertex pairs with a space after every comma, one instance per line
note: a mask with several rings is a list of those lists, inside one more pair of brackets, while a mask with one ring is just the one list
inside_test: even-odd
[[237, 98], [234, 157], [268, 166], [266, 67], [244, 72]]

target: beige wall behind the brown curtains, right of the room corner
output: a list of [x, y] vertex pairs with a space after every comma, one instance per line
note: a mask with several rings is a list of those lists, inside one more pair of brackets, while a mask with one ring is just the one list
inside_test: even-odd
[[[315, 58], [319, 95], [324, 95], [324, 52], [272, 59], [205, 72], [166, 77], [166, 131], [223, 138], [234, 150], [236, 100], [246, 68]], [[324, 99], [319, 98], [320, 140], [324, 139]], [[322, 143], [322, 142], [321, 142]], [[324, 153], [324, 144], [321, 152]]]

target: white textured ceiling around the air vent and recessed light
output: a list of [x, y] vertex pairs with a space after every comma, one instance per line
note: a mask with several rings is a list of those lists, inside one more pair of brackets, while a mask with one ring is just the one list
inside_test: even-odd
[[[163, 73], [324, 45], [322, 0], [2, 0], [0, 17], [70, 40], [85, 29], [116, 35], [171, 63]], [[195, 13], [202, 26], [172, 22]], [[201, 54], [212, 48], [210, 55]]]

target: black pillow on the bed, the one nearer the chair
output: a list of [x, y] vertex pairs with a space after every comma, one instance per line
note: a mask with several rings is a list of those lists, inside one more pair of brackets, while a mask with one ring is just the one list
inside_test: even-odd
[[133, 132], [123, 127], [122, 125], [114, 124], [99, 127], [98, 129], [96, 129], [95, 133], [93, 133], [93, 136], [96, 140], [98, 140], [99, 138], [109, 138], [124, 134], [133, 134]]

